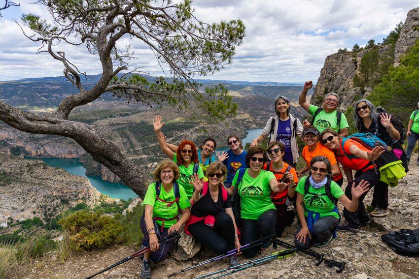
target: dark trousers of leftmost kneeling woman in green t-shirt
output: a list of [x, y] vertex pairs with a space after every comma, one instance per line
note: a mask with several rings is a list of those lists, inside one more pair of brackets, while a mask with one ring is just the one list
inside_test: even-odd
[[[156, 220], [154, 219], [153, 219], [153, 224], [154, 224], [154, 229], [156, 230], [157, 238], [159, 240], [161, 240], [162, 238], [166, 237], [169, 234], [167, 232], [169, 228], [164, 228], [162, 231], [162, 227], [159, 226], [159, 224], [157, 224]], [[141, 217], [140, 227], [141, 227], [142, 234], [144, 235], [144, 237], [142, 238], [142, 245], [144, 247], [147, 247], [150, 244], [148, 243], [149, 238], [147, 234], [147, 227], [145, 225], [144, 215]], [[160, 245], [158, 250], [151, 252], [150, 254], [151, 261], [153, 263], [158, 263], [158, 262], [161, 262], [162, 260], [165, 260], [169, 254], [170, 248], [172, 248], [174, 244], [175, 244], [175, 241], [171, 241], [171, 242], [166, 242], [163, 245]]]

